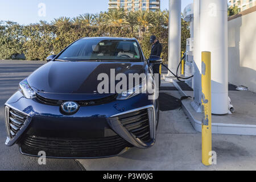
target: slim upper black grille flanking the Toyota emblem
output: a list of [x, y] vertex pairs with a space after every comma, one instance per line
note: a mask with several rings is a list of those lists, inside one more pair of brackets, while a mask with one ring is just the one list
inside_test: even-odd
[[[93, 105], [107, 104], [109, 102], [114, 101], [116, 98], [117, 98], [117, 94], [113, 94], [111, 96], [104, 97], [98, 100], [75, 101], [75, 102], [77, 102], [77, 104], [79, 104], [80, 106], [93, 106]], [[52, 99], [44, 98], [39, 94], [36, 94], [35, 100], [42, 104], [53, 105], [53, 106], [61, 106], [61, 104], [66, 102], [64, 100], [62, 101], [62, 100], [52, 100]]]

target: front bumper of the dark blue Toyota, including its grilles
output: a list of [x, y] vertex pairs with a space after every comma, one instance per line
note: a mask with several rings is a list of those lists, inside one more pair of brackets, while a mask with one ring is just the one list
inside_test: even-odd
[[155, 101], [147, 94], [80, 107], [68, 116], [59, 106], [40, 104], [16, 92], [6, 102], [5, 113], [6, 145], [18, 143], [22, 154], [32, 156], [46, 151], [48, 158], [102, 158], [155, 142]]

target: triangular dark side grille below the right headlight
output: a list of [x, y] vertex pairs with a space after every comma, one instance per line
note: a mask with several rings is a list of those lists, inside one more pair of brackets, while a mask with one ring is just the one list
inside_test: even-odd
[[147, 109], [119, 115], [118, 119], [128, 131], [143, 142], [149, 142], [151, 140]]

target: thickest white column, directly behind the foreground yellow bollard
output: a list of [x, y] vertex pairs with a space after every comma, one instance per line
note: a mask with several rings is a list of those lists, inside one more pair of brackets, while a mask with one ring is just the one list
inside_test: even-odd
[[[212, 113], [228, 113], [228, 1], [200, 3], [201, 51], [212, 52]], [[202, 68], [203, 74], [203, 68]]]

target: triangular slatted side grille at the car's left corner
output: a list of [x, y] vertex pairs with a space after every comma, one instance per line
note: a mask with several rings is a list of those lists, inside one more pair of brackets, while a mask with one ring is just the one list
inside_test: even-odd
[[20, 113], [14, 109], [9, 109], [9, 115], [7, 117], [7, 131], [9, 131], [9, 137], [14, 138], [19, 132], [20, 128], [24, 125], [27, 119], [27, 115]]

